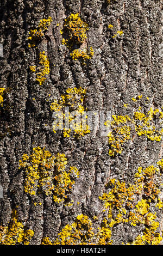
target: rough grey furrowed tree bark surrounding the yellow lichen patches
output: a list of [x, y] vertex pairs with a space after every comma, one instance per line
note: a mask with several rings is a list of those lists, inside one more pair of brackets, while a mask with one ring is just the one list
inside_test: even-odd
[[[89, 25], [85, 44], [95, 54], [87, 65], [72, 60], [66, 46], [61, 44], [60, 29], [67, 16], [80, 13]], [[162, 141], [151, 141], [131, 131], [131, 139], [123, 146], [122, 154], [109, 156], [108, 137], [99, 131], [80, 139], [64, 138], [62, 132], [52, 131], [53, 99], [59, 99], [67, 88], [87, 88], [84, 106], [96, 111], [111, 111], [114, 115], [132, 115], [143, 95], [141, 107], [146, 110], [146, 97], [151, 107], [162, 106], [161, 45], [162, 3], [160, 0], [45, 0], [1, 1], [1, 87], [8, 88], [1, 107], [1, 173], [3, 198], [0, 199], [1, 225], [7, 226], [11, 211], [17, 207], [18, 220], [34, 230], [30, 245], [40, 245], [43, 237], [54, 241], [66, 224], [79, 214], [91, 220], [98, 216], [95, 229], [105, 213], [99, 199], [105, 185], [112, 179], [133, 179], [137, 168], [156, 164], [162, 157]], [[52, 24], [37, 48], [28, 47], [28, 32], [40, 19], [51, 16]], [[59, 26], [56, 26], [60, 23]], [[114, 32], [123, 35], [112, 38]], [[38, 53], [45, 51], [50, 62], [50, 74], [40, 86], [29, 66], [38, 65]], [[55, 64], [55, 66], [54, 66]], [[49, 94], [51, 94], [49, 96]], [[35, 100], [34, 100], [34, 99]], [[128, 103], [128, 108], [123, 107]], [[37, 194], [35, 199], [24, 192], [24, 173], [18, 169], [22, 155], [32, 154], [33, 148], [45, 147], [53, 155], [64, 153], [70, 166], [80, 170], [70, 198], [73, 206], [53, 202], [51, 196]], [[160, 196], [161, 198], [161, 196]], [[41, 205], [33, 204], [33, 200]], [[140, 198], [139, 198], [140, 200]], [[80, 202], [80, 204], [77, 204]], [[135, 199], [135, 204], [138, 199]], [[152, 204], [151, 204], [152, 207]], [[153, 206], [154, 207], [154, 206]], [[152, 208], [151, 208], [152, 209]], [[162, 229], [161, 210], [157, 221]], [[115, 209], [116, 214], [116, 209]], [[112, 228], [113, 245], [134, 241], [145, 225], [116, 224]]]

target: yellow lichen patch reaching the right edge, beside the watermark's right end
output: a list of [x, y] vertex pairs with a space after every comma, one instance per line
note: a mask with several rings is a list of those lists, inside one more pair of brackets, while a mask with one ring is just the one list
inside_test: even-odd
[[[138, 101], [141, 98], [142, 95], [138, 95], [132, 100]], [[127, 104], [123, 106], [127, 108]], [[111, 121], [111, 131], [108, 134], [110, 156], [115, 157], [117, 154], [122, 153], [123, 144], [131, 139], [131, 130], [134, 130], [139, 137], [146, 136], [151, 141], [161, 141], [163, 134], [162, 112], [158, 108], [150, 108], [147, 114], [141, 110], [142, 107], [139, 107], [134, 112], [133, 118], [128, 115], [112, 115], [114, 121]]]

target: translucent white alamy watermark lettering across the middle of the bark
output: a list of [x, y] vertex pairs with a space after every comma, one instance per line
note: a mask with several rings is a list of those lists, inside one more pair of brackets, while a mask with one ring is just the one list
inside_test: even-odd
[[100, 131], [102, 137], [108, 136], [110, 132], [110, 111], [72, 111], [65, 107], [64, 111], [53, 112], [53, 130], [72, 131]]

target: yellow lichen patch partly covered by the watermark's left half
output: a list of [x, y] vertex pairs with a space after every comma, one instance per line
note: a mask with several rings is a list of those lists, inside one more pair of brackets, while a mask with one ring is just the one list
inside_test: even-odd
[[[89, 126], [86, 124], [87, 115], [86, 109], [83, 107], [83, 100], [85, 98], [86, 89], [68, 88], [66, 94], [61, 94], [59, 101], [55, 100], [51, 105], [51, 110], [58, 112], [59, 117], [53, 122], [54, 133], [57, 130], [62, 130], [64, 137], [73, 136], [80, 138], [87, 133], [90, 133]], [[69, 107], [67, 112], [64, 108]], [[65, 122], [65, 123], [64, 123]]]

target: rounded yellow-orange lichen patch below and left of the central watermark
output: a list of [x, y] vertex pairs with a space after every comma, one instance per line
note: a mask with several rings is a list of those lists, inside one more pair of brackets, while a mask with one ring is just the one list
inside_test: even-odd
[[45, 193], [53, 194], [55, 202], [64, 202], [67, 194], [72, 190], [79, 172], [76, 167], [66, 171], [67, 159], [65, 154], [53, 156], [48, 150], [36, 147], [33, 153], [23, 155], [20, 167], [25, 170], [24, 191], [31, 196]]

